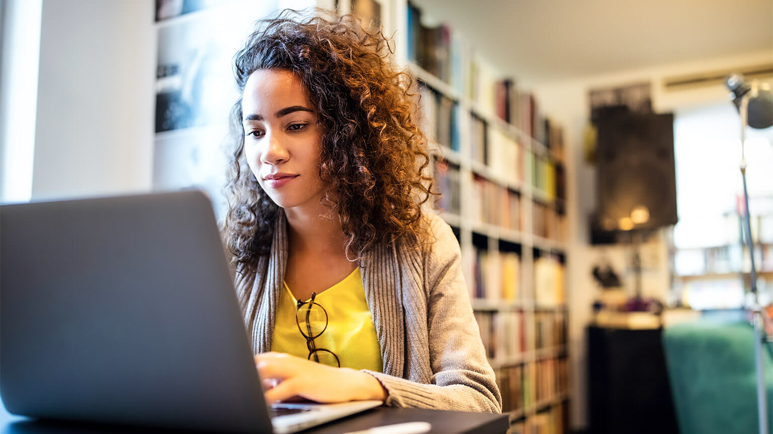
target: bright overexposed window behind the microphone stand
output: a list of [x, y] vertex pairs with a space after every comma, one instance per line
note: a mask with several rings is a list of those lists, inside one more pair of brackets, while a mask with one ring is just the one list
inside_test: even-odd
[[[729, 102], [676, 112], [674, 154], [679, 223], [673, 232], [674, 295], [696, 309], [744, 305], [751, 270], [741, 246], [741, 120]], [[773, 127], [747, 129], [752, 239], [761, 301], [773, 292]]]

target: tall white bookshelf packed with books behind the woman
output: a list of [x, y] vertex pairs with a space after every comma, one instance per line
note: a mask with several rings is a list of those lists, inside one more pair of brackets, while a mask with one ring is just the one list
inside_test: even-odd
[[458, 236], [502, 410], [512, 432], [567, 432], [567, 217], [560, 127], [539, 114], [532, 95], [501, 80], [453, 29], [425, 27], [424, 11], [406, 0], [389, 5], [397, 28], [388, 33], [397, 30], [398, 62], [419, 82], [421, 127], [431, 142], [436, 185], [444, 193], [434, 212]]

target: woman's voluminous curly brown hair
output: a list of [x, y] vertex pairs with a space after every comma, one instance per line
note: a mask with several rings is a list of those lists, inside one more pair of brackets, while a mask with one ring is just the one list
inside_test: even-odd
[[[263, 69], [289, 70], [308, 90], [323, 131], [319, 175], [329, 190], [322, 202], [340, 216], [347, 257], [362, 259], [380, 242], [418, 246], [421, 205], [437, 193], [425, 175], [427, 139], [417, 127], [414, 79], [392, 63], [383, 32], [367, 32], [353, 15], [304, 15], [284, 10], [257, 22], [234, 56], [239, 90]], [[279, 206], [247, 166], [241, 122], [240, 99], [231, 113], [236, 137], [223, 238], [233, 261], [254, 270], [270, 251]]]

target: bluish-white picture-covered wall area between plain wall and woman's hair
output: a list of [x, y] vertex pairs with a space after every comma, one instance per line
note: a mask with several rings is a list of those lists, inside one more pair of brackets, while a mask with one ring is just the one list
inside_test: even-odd
[[[254, 22], [276, 12], [280, 2], [216, 3], [192, 2], [203, 12], [156, 25], [153, 186], [200, 188], [220, 219], [226, 212], [226, 153], [233, 144], [229, 115], [240, 96], [233, 55], [254, 31]], [[224, 4], [230, 6], [220, 7]]]

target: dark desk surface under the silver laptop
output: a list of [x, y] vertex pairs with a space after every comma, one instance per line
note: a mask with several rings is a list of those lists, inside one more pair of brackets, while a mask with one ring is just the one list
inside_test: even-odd
[[[124, 428], [120, 426], [94, 426], [71, 422], [47, 422], [11, 415], [0, 405], [2, 434], [129, 434], [137, 432], [162, 432], [158, 429]], [[432, 424], [437, 434], [489, 434], [506, 432], [507, 416], [489, 413], [440, 412], [424, 409], [393, 409], [379, 407], [335, 422], [303, 431], [303, 434], [341, 434], [342, 432], [368, 429], [374, 426], [401, 422], [425, 421]], [[179, 431], [173, 431], [178, 432]], [[171, 433], [171, 432], [170, 432]]]

